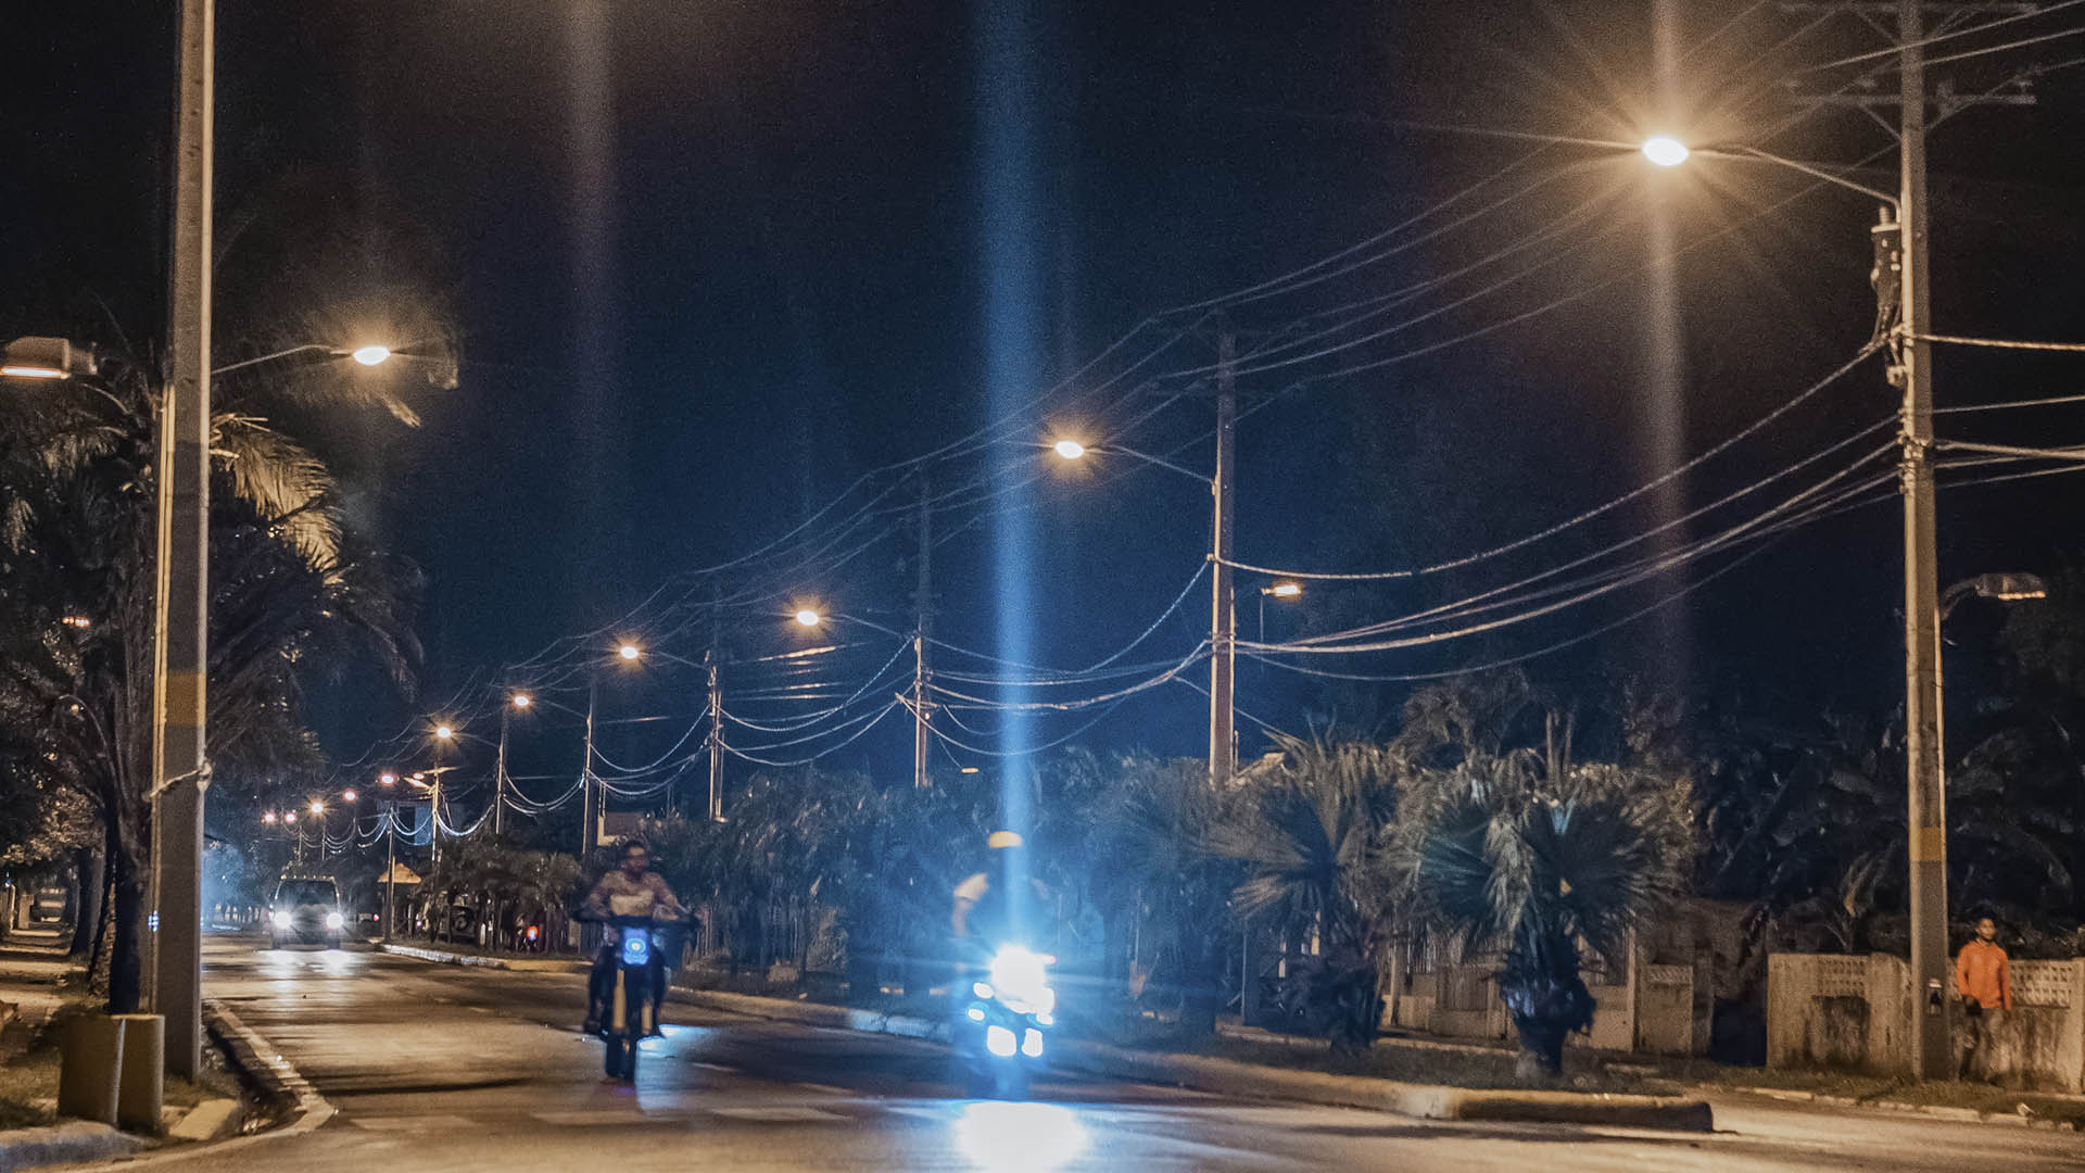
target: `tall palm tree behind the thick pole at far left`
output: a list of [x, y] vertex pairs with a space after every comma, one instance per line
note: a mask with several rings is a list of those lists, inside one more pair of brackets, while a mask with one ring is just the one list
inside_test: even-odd
[[[117, 1012], [140, 994], [156, 413], [158, 392], [136, 365], [0, 413], [0, 760], [92, 804], [108, 870], [102, 977]], [[227, 409], [213, 417], [211, 451], [208, 756], [238, 793], [261, 770], [317, 764], [298, 712], [304, 672], [354, 651], [409, 685], [413, 591], [409, 568], [344, 534], [327, 468], [296, 440]]]

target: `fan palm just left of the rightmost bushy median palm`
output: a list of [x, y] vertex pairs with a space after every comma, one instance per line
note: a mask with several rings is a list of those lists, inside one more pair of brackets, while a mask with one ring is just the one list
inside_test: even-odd
[[1245, 868], [1234, 908], [1247, 920], [1316, 935], [1289, 1002], [1332, 1050], [1366, 1048], [1380, 1019], [1378, 971], [1397, 916], [1391, 756], [1326, 733], [1276, 735], [1280, 758], [1249, 783], [1209, 849]]

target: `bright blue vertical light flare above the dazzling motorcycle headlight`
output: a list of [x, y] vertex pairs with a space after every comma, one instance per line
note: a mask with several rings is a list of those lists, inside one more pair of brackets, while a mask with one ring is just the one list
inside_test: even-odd
[[[1038, 198], [1036, 117], [1040, 94], [1034, 63], [1040, 23], [1034, 0], [986, 0], [974, 8], [976, 63], [974, 92], [978, 125], [978, 263], [984, 271], [984, 384], [986, 417], [1005, 420], [1026, 405], [1034, 374], [1047, 365], [1042, 349], [1042, 223]], [[1030, 490], [1011, 482], [1026, 474], [1026, 459], [1013, 447], [995, 476], [1011, 490], [1009, 505], [1024, 505]], [[997, 651], [1005, 660], [1032, 662], [1034, 645], [1034, 557], [1036, 532], [1028, 509], [1007, 507], [992, 516], [992, 605], [997, 607]], [[1022, 701], [1017, 689], [1001, 699]], [[1020, 710], [1001, 724], [1001, 824], [1028, 837], [1030, 779], [1028, 751], [1034, 739]], [[1009, 914], [1020, 931], [1026, 923], [1020, 895], [1011, 893]]]

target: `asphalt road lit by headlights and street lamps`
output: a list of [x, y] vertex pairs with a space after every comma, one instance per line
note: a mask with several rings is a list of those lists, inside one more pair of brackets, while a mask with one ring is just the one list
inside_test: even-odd
[[407, 1173], [538, 1169], [1891, 1169], [2085, 1167], [2072, 1133], [1718, 1104], [1714, 1135], [1460, 1125], [1051, 1079], [1036, 1102], [959, 1100], [940, 1048], [692, 1006], [638, 1085], [600, 1077], [580, 977], [367, 950], [206, 945], [204, 991], [336, 1115], [302, 1135], [129, 1169]]

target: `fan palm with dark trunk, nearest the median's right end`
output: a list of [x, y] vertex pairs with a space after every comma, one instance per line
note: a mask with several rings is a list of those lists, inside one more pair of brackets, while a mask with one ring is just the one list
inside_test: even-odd
[[[1564, 739], [1568, 741], [1568, 737]], [[1693, 864], [1685, 776], [1574, 764], [1551, 722], [1543, 751], [1472, 751], [1407, 776], [1397, 856], [1418, 914], [1470, 952], [1503, 952], [1499, 996], [1522, 1071], [1557, 1075], [1593, 1025], [1580, 945], [1620, 962]]]

